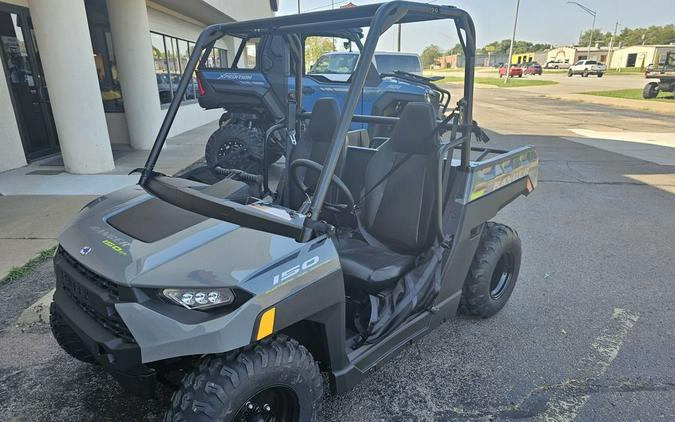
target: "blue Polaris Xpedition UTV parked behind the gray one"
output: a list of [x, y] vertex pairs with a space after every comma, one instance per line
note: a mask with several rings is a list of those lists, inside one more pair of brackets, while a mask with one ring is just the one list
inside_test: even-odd
[[[219, 128], [209, 138], [205, 152], [206, 163], [218, 178], [236, 171], [262, 173], [262, 163], [269, 166], [277, 161], [285, 154], [286, 139], [295, 136], [293, 129], [287, 127], [287, 116], [311, 112], [316, 102], [326, 97], [334, 98], [342, 108], [350, 85], [349, 77], [335, 80], [311, 70], [306, 72], [303, 64], [302, 100], [298, 106], [294, 96], [295, 78], [291, 76], [295, 69], [282, 59], [288, 48], [285, 37], [258, 31], [237, 35], [239, 47], [229, 67], [210, 67], [210, 55], [205, 54], [197, 70], [199, 104], [205, 109], [224, 110]], [[303, 55], [305, 42], [310, 37], [339, 39], [348, 52], [363, 47], [361, 29], [299, 35], [300, 45], [294, 47]], [[333, 45], [336, 44], [341, 43]], [[353, 54], [358, 60], [358, 53]], [[354, 66], [352, 63], [352, 70]], [[373, 64], [356, 113], [398, 117], [406, 104], [428, 102], [442, 114], [450, 102], [450, 93], [434, 84], [435, 80], [404, 70], [380, 74]], [[353, 123], [350, 144], [377, 146], [389, 132], [386, 125]]]

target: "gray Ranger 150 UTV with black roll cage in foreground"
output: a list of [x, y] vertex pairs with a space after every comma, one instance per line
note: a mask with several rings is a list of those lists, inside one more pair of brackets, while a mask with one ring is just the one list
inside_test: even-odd
[[[399, 117], [355, 113], [379, 35], [451, 19], [464, 97]], [[280, 180], [243, 171], [208, 185], [154, 171], [191, 75], [216, 39], [278, 36], [276, 65], [303, 68], [299, 33], [370, 27], [342, 108], [289, 107]], [[490, 222], [537, 183], [532, 147], [500, 151], [472, 119], [475, 30], [463, 10], [411, 2], [208, 27], [186, 66], [137, 186], [102, 196], [59, 237], [51, 326], [61, 347], [151, 396], [166, 421], [310, 421], [321, 373], [339, 394], [459, 312], [489, 317], [518, 278], [516, 232]], [[241, 78], [245, 78], [242, 70]], [[295, 73], [291, 104], [302, 104]], [[390, 125], [377, 148], [352, 122]], [[262, 199], [260, 199], [262, 198]], [[411, 380], [411, 382], [414, 380]]]

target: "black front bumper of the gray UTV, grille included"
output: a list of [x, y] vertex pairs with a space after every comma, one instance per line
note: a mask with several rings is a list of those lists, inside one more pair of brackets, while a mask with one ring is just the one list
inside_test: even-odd
[[54, 312], [125, 390], [151, 397], [155, 370], [143, 365], [140, 347], [115, 311], [118, 291], [87, 277], [62, 249], [54, 257], [54, 270]]

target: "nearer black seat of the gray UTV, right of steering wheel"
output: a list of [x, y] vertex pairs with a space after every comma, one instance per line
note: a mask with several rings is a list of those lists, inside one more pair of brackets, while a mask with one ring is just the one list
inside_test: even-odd
[[435, 115], [431, 104], [406, 105], [391, 139], [370, 159], [364, 183], [364, 192], [370, 193], [358, 218], [362, 239], [337, 242], [347, 288], [382, 292], [412, 270], [416, 257], [431, 246], [439, 139], [429, 134]]

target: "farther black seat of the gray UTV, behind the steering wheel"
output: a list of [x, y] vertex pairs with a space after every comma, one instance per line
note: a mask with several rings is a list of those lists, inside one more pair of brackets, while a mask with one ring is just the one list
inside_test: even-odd
[[[320, 98], [312, 108], [312, 116], [309, 118], [307, 130], [305, 130], [298, 141], [298, 145], [293, 148], [290, 162], [306, 158], [315, 163], [324, 165], [330, 150], [333, 134], [337, 128], [338, 120], [340, 120], [340, 108], [335, 98]], [[340, 177], [342, 169], [347, 157], [347, 146], [340, 154], [338, 165], [335, 169], [335, 174]], [[306, 171], [304, 168], [299, 168], [299, 177], [303, 180], [306, 186], [315, 186], [319, 178], [319, 174], [313, 171]], [[290, 176], [290, 175], [289, 175]], [[290, 178], [289, 178], [290, 179]], [[300, 205], [307, 199], [305, 193], [298, 188], [291, 180], [290, 183], [290, 207], [298, 209]], [[337, 189], [331, 187], [328, 191], [327, 201], [336, 202]]]

